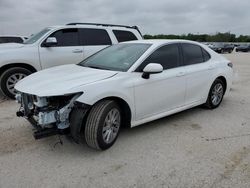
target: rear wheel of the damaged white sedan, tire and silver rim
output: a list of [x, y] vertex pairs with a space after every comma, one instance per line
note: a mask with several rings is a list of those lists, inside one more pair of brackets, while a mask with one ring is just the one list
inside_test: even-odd
[[[221, 79], [217, 78], [213, 82], [209, 90], [209, 94], [208, 94], [205, 106], [209, 109], [217, 108], [221, 104], [224, 94], [225, 94], [225, 84]], [[217, 99], [215, 99], [216, 96], [217, 96]]]

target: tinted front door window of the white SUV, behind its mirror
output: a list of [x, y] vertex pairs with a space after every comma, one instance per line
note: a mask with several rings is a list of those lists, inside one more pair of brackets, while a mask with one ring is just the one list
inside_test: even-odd
[[78, 29], [62, 29], [51, 34], [57, 40], [56, 46], [79, 46]]

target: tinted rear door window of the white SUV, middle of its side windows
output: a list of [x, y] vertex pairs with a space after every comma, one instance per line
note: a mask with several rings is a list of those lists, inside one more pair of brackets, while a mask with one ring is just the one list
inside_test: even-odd
[[112, 42], [104, 29], [79, 29], [80, 44], [84, 46], [111, 45]]

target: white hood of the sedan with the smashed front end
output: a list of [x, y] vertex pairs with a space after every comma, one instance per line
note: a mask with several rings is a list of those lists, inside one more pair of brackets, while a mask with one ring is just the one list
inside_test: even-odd
[[58, 96], [81, 92], [80, 86], [110, 78], [115, 74], [115, 71], [63, 65], [32, 74], [19, 81], [15, 89], [40, 97]]

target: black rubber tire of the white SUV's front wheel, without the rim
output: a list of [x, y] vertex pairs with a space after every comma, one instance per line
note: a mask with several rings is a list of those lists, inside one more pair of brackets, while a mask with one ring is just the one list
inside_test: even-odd
[[1, 90], [3, 92], [3, 94], [11, 99], [14, 99], [15, 96], [8, 90], [7, 86], [6, 86], [6, 82], [8, 80], [8, 78], [16, 73], [22, 73], [25, 74], [26, 76], [30, 75], [32, 72], [29, 71], [28, 69], [25, 68], [21, 68], [21, 67], [14, 67], [14, 68], [10, 68], [8, 70], [6, 70], [5, 72], [3, 72], [3, 74], [0, 77], [0, 86], [1, 86]]

